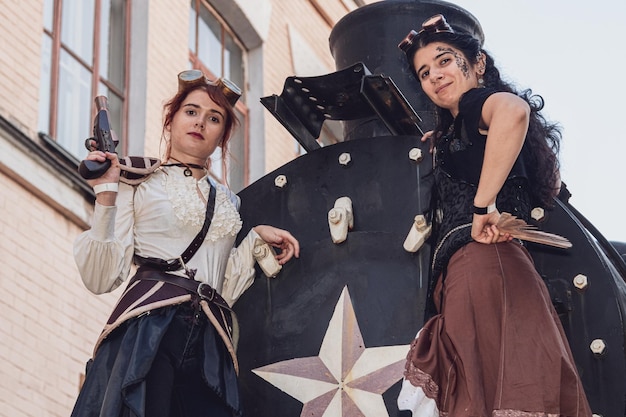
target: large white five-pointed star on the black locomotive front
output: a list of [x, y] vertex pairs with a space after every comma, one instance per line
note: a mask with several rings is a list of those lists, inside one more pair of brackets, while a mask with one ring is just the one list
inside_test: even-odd
[[382, 394], [402, 379], [409, 345], [366, 348], [344, 287], [318, 356], [252, 372], [303, 403], [304, 417], [389, 417]]

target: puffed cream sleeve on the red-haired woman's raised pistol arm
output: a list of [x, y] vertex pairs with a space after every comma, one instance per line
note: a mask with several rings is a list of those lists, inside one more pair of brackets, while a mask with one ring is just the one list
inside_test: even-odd
[[133, 259], [133, 187], [120, 183], [115, 206], [94, 207], [91, 229], [74, 241], [74, 259], [85, 287], [103, 294], [119, 287]]

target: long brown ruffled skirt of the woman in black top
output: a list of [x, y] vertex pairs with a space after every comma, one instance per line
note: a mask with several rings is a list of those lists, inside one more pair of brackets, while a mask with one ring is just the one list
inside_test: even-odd
[[411, 344], [401, 409], [414, 417], [591, 416], [561, 322], [523, 246], [464, 246], [435, 300], [440, 314]]

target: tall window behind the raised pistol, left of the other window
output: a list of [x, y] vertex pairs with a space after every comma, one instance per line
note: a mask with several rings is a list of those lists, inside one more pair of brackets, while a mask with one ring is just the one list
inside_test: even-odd
[[113, 130], [125, 136], [129, 7], [125, 0], [44, 0], [38, 130], [79, 160], [93, 134], [96, 96], [108, 98]]

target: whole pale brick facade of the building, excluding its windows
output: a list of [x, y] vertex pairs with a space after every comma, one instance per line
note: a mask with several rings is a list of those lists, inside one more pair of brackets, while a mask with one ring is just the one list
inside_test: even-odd
[[[328, 0], [331, 1], [331, 0]], [[345, 0], [336, 0], [342, 3]], [[37, 139], [39, 69], [43, 0], [2, 2], [0, 21], [0, 116], [21, 135]], [[265, 95], [279, 94], [294, 75], [288, 26], [305, 37], [320, 64], [334, 70], [328, 49], [331, 26], [311, 0], [272, 2], [268, 37], [263, 46]], [[318, 6], [319, 7], [319, 6]], [[341, 14], [333, 7], [332, 16]], [[150, 2], [146, 16], [145, 83], [146, 155], [162, 154], [162, 106], [176, 91], [176, 74], [188, 65], [188, 0]], [[132, 61], [132, 59], [131, 59]], [[321, 75], [321, 74], [320, 74]], [[249, 106], [261, 106], [249, 103]], [[294, 158], [295, 140], [265, 112], [266, 172]], [[28, 158], [0, 132], [0, 417], [69, 415], [85, 361], [121, 289], [95, 296], [83, 286], [72, 243], [91, 210], [71, 184], [58, 194], [50, 185], [20, 172], [9, 158]], [[256, 134], [256, 133], [255, 133]], [[11, 150], [7, 154], [6, 149]], [[20, 153], [21, 152], [21, 153]], [[19, 153], [19, 155], [17, 154]], [[33, 156], [33, 161], [36, 161]], [[40, 163], [40, 162], [33, 162]], [[37, 168], [50, 176], [48, 166]], [[64, 204], [71, 199], [73, 204]], [[63, 209], [65, 207], [65, 209]], [[69, 210], [82, 211], [68, 213]], [[79, 207], [78, 209], [76, 207]]]

